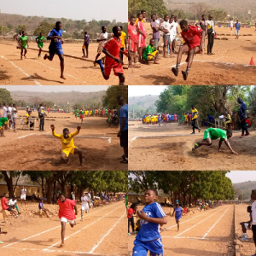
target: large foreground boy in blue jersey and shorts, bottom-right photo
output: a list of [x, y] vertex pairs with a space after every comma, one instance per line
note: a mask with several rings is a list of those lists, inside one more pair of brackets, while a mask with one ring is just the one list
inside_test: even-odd
[[157, 199], [157, 191], [148, 189], [145, 193], [146, 206], [142, 211], [137, 211], [141, 219], [140, 230], [137, 233], [132, 256], [163, 256], [163, 244], [160, 237], [160, 225], [167, 224], [166, 213]]

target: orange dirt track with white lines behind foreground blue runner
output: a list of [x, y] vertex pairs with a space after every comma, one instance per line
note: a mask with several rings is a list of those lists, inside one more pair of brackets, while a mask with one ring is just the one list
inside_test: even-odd
[[[170, 209], [164, 208], [168, 223], [161, 233], [165, 256], [234, 256], [234, 206], [225, 205], [205, 212], [189, 213], [183, 216], [177, 233], [175, 218]], [[173, 211], [173, 209], [172, 209]], [[131, 256], [135, 236], [128, 237]], [[149, 254], [148, 254], [149, 255]]]

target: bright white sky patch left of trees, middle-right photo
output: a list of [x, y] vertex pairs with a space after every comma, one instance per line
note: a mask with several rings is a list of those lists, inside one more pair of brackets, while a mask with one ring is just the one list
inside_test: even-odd
[[166, 85], [132, 85], [129, 86], [128, 96], [160, 95]]

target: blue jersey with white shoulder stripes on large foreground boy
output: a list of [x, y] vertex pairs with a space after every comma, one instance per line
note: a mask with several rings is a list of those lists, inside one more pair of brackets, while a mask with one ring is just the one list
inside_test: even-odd
[[[166, 213], [163, 211], [159, 203], [154, 202], [143, 208], [143, 212], [149, 218], [163, 218]], [[160, 238], [160, 224], [145, 221], [141, 219], [141, 229], [138, 231], [136, 239], [139, 241], [153, 241]]]

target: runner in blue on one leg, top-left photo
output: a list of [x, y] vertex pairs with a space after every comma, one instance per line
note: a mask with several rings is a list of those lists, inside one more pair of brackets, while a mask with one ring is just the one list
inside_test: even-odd
[[61, 79], [66, 79], [63, 75], [64, 73], [64, 53], [62, 49], [62, 44], [64, 43], [62, 37], [61, 30], [61, 21], [57, 21], [55, 24], [55, 28], [52, 29], [47, 37], [47, 40], [51, 40], [49, 44], [49, 55], [44, 55], [44, 60], [48, 59], [52, 61], [55, 54], [59, 56], [61, 61]]

